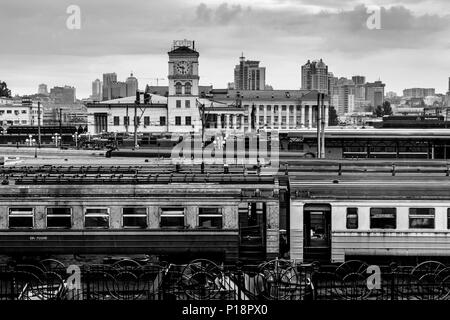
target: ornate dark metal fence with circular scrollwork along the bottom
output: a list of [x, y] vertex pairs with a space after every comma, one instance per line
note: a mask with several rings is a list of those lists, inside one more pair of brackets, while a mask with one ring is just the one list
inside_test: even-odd
[[[380, 271], [380, 273], [378, 273]], [[260, 265], [185, 265], [121, 260], [65, 266], [56, 260], [0, 266], [0, 300], [447, 300], [450, 267], [321, 266], [273, 260]]]

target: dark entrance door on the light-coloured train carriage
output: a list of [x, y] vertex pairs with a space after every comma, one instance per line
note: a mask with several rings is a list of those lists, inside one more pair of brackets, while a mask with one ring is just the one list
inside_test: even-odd
[[305, 261], [331, 260], [331, 206], [305, 204], [303, 207], [303, 255]]

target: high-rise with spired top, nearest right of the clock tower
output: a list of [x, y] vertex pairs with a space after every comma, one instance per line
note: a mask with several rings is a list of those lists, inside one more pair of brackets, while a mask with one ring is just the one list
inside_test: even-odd
[[266, 86], [266, 68], [259, 61], [245, 60], [242, 55], [234, 68], [234, 86], [236, 90], [264, 90]]

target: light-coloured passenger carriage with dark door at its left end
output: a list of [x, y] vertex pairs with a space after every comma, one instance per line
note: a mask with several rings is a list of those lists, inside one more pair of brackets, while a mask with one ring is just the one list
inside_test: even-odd
[[448, 259], [448, 169], [423, 169], [293, 174], [290, 258], [331, 262]]

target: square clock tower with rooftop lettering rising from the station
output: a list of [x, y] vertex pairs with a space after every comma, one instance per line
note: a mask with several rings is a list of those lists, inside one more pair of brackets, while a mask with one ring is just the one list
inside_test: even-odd
[[167, 99], [170, 132], [192, 132], [201, 128], [198, 98], [198, 57], [194, 41], [176, 40], [169, 54], [169, 96]]

